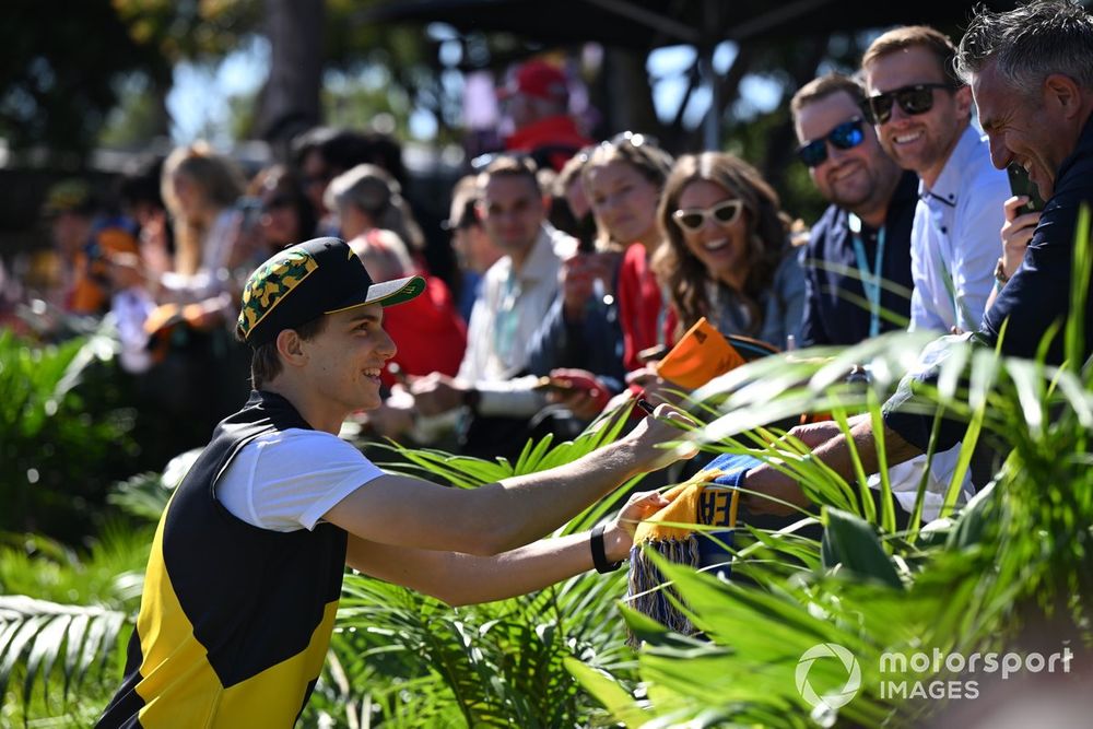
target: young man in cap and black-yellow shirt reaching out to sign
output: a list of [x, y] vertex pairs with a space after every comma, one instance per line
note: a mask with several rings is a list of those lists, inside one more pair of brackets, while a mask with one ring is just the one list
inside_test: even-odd
[[[107, 727], [292, 726], [329, 647], [345, 566], [453, 604], [497, 600], [628, 554], [632, 498], [585, 534], [541, 539], [638, 473], [694, 455], [660, 405], [569, 465], [478, 489], [384, 473], [338, 438], [380, 403], [396, 348], [384, 307], [425, 289], [373, 284], [342, 240], [317, 238], [251, 274], [237, 332], [255, 390], [213, 433], [164, 510]], [[536, 541], [539, 540], [539, 541]]]

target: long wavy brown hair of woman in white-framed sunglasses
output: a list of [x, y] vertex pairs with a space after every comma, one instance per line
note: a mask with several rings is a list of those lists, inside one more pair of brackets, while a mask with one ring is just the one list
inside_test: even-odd
[[789, 247], [789, 216], [781, 212], [778, 193], [757, 169], [740, 157], [722, 152], [687, 154], [677, 160], [660, 197], [657, 217], [666, 243], [657, 249], [651, 266], [668, 290], [679, 317], [675, 336], [680, 337], [701, 317], [710, 314], [706, 295], [709, 273], [687, 248], [683, 231], [672, 219], [679, 210], [683, 189], [698, 180], [713, 183], [744, 203], [748, 247], [743, 266], [747, 275], [743, 289], [736, 293], [749, 313], [751, 325], [748, 333], [755, 336], [763, 327], [759, 297], [773, 284], [775, 271]]

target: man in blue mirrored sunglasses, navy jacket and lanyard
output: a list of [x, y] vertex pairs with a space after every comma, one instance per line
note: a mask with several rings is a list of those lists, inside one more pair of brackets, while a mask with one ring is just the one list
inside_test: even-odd
[[906, 328], [918, 178], [884, 154], [863, 118], [865, 92], [828, 73], [790, 102], [798, 156], [831, 202], [804, 251], [801, 344], [857, 344]]

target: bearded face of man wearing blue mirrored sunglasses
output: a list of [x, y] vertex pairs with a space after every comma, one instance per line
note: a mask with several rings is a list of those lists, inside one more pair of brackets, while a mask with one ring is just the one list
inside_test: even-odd
[[[823, 139], [838, 125], [861, 116], [854, 98], [845, 91], [836, 91], [801, 107], [797, 114], [797, 140], [806, 144]], [[862, 125], [862, 133], [861, 143], [849, 150], [825, 142], [827, 158], [809, 167], [809, 174], [830, 202], [862, 217], [874, 211], [883, 216], [900, 167], [881, 150], [872, 127]]]

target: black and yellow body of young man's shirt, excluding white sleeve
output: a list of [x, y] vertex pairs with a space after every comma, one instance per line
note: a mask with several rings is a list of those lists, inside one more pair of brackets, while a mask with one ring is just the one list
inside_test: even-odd
[[172, 496], [99, 727], [289, 727], [299, 716], [333, 630], [346, 534], [260, 529], [214, 496], [244, 445], [291, 427], [310, 430], [284, 398], [252, 392]]

